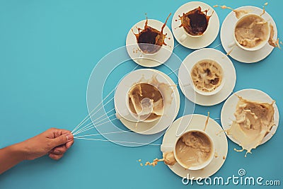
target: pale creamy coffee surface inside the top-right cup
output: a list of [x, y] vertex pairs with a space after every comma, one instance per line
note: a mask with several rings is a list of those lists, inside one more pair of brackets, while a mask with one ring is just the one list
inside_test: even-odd
[[235, 38], [240, 45], [253, 48], [269, 38], [269, 26], [267, 21], [257, 15], [248, 15], [237, 23]]

